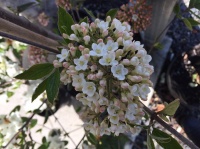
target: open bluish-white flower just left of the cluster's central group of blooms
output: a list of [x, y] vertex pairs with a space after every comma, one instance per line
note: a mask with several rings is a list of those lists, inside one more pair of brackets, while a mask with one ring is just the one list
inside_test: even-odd
[[78, 71], [87, 69], [88, 60], [84, 56], [81, 56], [79, 59], [74, 59], [74, 63], [76, 64], [75, 69]]

